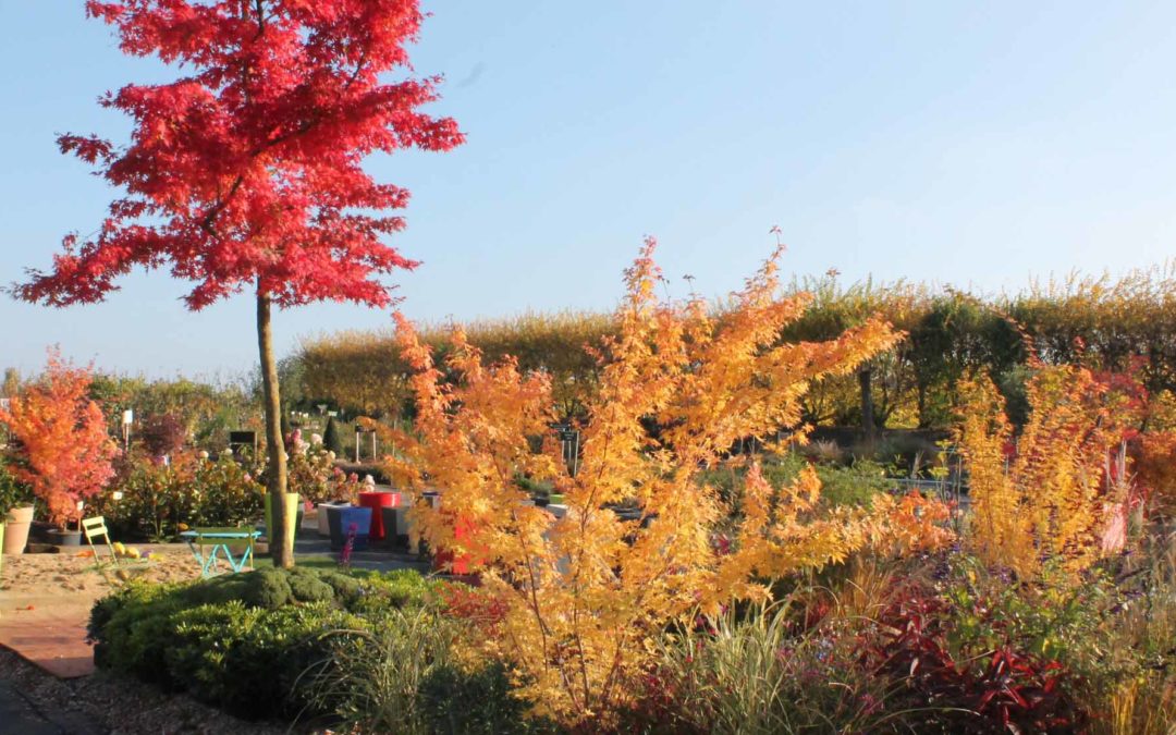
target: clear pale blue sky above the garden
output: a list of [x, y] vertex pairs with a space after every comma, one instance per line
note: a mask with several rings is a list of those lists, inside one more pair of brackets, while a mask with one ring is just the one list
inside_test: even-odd
[[[125, 138], [106, 89], [159, 81], [80, 1], [0, 0], [0, 282], [91, 232], [112, 192], [55, 133]], [[406, 186], [395, 280], [413, 319], [610, 308], [641, 238], [674, 288], [737, 288], [780, 225], [796, 273], [984, 289], [1176, 254], [1176, 4], [426, 2], [414, 64], [468, 134], [373, 159]], [[100, 368], [233, 375], [256, 362], [253, 302], [198, 314], [165, 274], [107, 303], [0, 299], [0, 367], [48, 345]], [[682, 293], [676, 295], [682, 295]], [[299, 338], [388, 315], [280, 313]]]

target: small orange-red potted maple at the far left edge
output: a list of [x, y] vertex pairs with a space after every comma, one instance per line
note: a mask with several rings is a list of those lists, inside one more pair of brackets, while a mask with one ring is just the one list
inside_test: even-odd
[[32, 486], [49, 521], [65, 526], [78, 503], [98, 494], [114, 475], [118, 447], [106, 430], [102, 409], [89, 399], [91, 370], [49, 352], [41, 377], [14, 396], [0, 423], [16, 440], [9, 470]]

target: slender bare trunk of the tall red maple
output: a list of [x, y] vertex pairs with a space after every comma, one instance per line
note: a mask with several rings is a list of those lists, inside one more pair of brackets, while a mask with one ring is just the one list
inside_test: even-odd
[[[269, 493], [269, 517], [274, 524], [267, 528], [269, 553], [274, 567], [294, 566], [294, 519], [286, 514], [286, 437], [282, 436], [282, 400], [278, 388], [278, 361], [274, 360], [274, 338], [269, 320], [270, 301], [267, 294], [258, 293], [258, 352], [261, 355], [261, 385], [266, 408], [266, 453], [269, 472], [266, 473], [266, 492]], [[278, 533], [274, 533], [278, 532]]]

